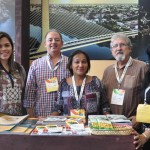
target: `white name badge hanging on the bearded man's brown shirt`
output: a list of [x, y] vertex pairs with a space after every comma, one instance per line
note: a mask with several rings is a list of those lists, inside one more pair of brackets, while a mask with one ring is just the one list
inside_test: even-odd
[[123, 105], [125, 90], [113, 89], [111, 104]]

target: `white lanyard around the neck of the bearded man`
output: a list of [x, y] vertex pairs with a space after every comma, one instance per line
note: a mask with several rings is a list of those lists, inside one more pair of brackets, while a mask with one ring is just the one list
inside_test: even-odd
[[123, 81], [123, 78], [124, 78], [124, 76], [125, 76], [125, 74], [127, 72], [127, 69], [129, 67], [131, 61], [132, 61], [132, 58], [130, 57], [120, 78], [119, 78], [119, 74], [118, 74], [118, 71], [117, 71], [117, 64], [115, 65], [115, 74], [116, 74], [116, 78], [117, 78], [117, 81], [118, 81], [119, 88], [120, 88], [120, 85], [121, 85], [121, 83]]

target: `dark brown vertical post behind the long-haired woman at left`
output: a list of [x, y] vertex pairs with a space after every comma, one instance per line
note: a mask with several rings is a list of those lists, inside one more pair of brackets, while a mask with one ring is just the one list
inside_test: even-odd
[[15, 59], [29, 69], [29, 10], [30, 0], [16, 0]]

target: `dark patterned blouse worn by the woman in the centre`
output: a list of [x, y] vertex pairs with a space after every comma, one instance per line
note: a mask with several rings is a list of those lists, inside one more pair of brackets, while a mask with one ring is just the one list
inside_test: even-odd
[[[77, 87], [78, 94], [80, 88]], [[61, 112], [62, 115], [70, 115], [70, 109], [85, 109], [86, 114], [102, 114], [109, 111], [102, 83], [96, 76], [85, 84], [80, 101], [75, 99], [73, 86], [68, 85], [66, 79], [63, 79], [58, 90], [56, 108], [55, 111]]]

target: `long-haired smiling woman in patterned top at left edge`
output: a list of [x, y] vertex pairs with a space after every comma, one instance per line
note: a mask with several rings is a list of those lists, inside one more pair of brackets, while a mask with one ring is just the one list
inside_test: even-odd
[[0, 32], [0, 112], [22, 115], [21, 95], [25, 70], [14, 62], [14, 45], [11, 37]]

